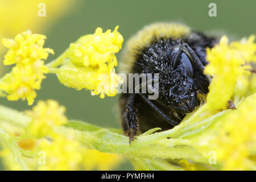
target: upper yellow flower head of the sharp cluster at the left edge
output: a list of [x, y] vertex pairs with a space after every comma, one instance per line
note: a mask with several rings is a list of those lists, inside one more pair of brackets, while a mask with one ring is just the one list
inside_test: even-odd
[[32, 64], [35, 61], [46, 60], [49, 53], [54, 54], [50, 48], [43, 48], [46, 36], [40, 34], [32, 34], [30, 30], [18, 34], [13, 39], [2, 39], [5, 47], [9, 51], [5, 55], [3, 63], [10, 64]]

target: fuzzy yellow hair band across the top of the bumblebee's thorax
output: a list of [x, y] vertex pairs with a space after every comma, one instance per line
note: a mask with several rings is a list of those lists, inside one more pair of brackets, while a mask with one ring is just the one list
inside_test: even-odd
[[190, 28], [181, 23], [158, 22], [145, 26], [126, 43], [122, 52], [119, 72], [130, 73], [138, 50], [149, 45], [153, 38], [180, 39], [190, 32]]

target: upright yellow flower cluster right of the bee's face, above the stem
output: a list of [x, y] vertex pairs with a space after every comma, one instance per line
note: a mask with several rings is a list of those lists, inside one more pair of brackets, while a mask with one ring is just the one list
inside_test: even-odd
[[236, 88], [246, 88], [244, 84], [251, 68], [248, 62], [256, 61], [255, 52], [254, 36], [231, 44], [228, 44], [228, 39], [223, 36], [220, 44], [212, 49], [207, 48], [209, 64], [204, 72], [213, 76], [207, 96], [208, 109], [225, 109]]

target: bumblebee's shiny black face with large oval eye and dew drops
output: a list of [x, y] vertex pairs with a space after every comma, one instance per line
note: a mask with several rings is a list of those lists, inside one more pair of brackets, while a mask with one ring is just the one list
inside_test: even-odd
[[[179, 49], [181, 43], [172, 44], [171, 51], [166, 56], [168, 65], [160, 71], [159, 99], [178, 113], [191, 113], [197, 104], [197, 86], [195, 69], [189, 52]], [[180, 49], [181, 50], [181, 49]]]

